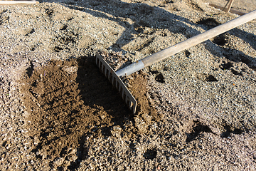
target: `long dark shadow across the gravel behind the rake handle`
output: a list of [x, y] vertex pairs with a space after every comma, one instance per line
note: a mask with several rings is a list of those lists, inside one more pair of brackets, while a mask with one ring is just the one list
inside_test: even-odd
[[[52, 2], [52, 1], [43, 1]], [[56, 1], [54, 1], [56, 2]], [[172, 4], [176, 1], [166, 1], [166, 5], [169, 5], [169, 11], [161, 8], [161, 6], [149, 6], [142, 2], [137, 3], [127, 3], [123, 1], [111, 0], [111, 1], [60, 1], [59, 3], [63, 6], [67, 6], [70, 9], [80, 10], [91, 14], [95, 17], [100, 17], [102, 19], [108, 19], [110, 21], [117, 22], [120, 26], [124, 27], [125, 30], [119, 39], [112, 44], [109, 48], [114, 51], [121, 51], [122, 47], [127, 43], [134, 40], [134, 35], [147, 34], [151, 35], [155, 31], [164, 29], [169, 30], [171, 33], [181, 33], [186, 38], [191, 38], [196, 36], [200, 31], [193, 29], [191, 26], [200, 26], [201, 28], [208, 30], [215, 26], [220, 25], [220, 22], [215, 19], [215, 16], [202, 17], [199, 21], [192, 21], [191, 19], [186, 19], [182, 16], [178, 16], [170, 11], [181, 11], [181, 9], [176, 9]], [[58, 2], [57, 2], [58, 3]], [[198, 6], [198, 4], [187, 4], [192, 6], [193, 11], [203, 12], [203, 9]], [[132, 24], [127, 22], [126, 19], [132, 21]], [[153, 31], [146, 31], [147, 28], [153, 28]], [[256, 36], [252, 33], [248, 33], [240, 30], [239, 28], [233, 28], [233, 30], [228, 31], [230, 35], [237, 36], [250, 44], [252, 48], [256, 50]], [[143, 48], [149, 46], [153, 43], [154, 38], [144, 42], [139, 45], [141, 51]], [[225, 58], [230, 59], [230, 61], [242, 62], [247, 66], [255, 70], [254, 57], [247, 56], [242, 51], [238, 51], [233, 48], [224, 48], [225, 44], [228, 44], [228, 40], [223, 38], [223, 35], [213, 38], [212, 41], [208, 41], [208, 46], [206, 47], [210, 53], [216, 56], [225, 56]], [[216, 53], [215, 48], [222, 51], [222, 53]], [[221, 50], [222, 49], [222, 50]], [[235, 51], [235, 53], [234, 53]], [[150, 50], [151, 53], [156, 53], [154, 49]]]

